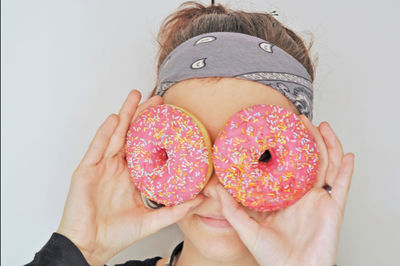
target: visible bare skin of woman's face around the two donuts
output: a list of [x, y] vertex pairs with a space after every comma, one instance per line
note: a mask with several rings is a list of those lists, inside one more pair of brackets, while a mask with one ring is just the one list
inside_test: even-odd
[[[274, 104], [299, 114], [293, 103], [277, 90], [258, 82], [222, 78], [195, 78], [178, 82], [163, 95], [164, 103], [174, 104], [194, 114], [206, 127], [211, 142], [214, 141], [226, 121], [236, 112], [256, 105]], [[215, 170], [215, 169], [214, 169]], [[199, 255], [219, 261], [237, 260], [249, 256], [233, 227], [218, 227], [205, 223], [200, 216], [222, 215], [216, 185], [218, 177], [213, 172], [202, 190], [204, 200], [192, 209], [178, 226], [185, 234], [185, 246], [191, 246]], [[261, 213], [242, 206], [256, 221], [263, 220], [268, 213]]]

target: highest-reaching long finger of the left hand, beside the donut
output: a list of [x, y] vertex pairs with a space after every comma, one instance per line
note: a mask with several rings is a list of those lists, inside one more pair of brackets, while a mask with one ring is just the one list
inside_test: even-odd
[[130, 121], [136, 112], [136, 108], [142, 98], [141, 93], [138, 90], [131, 90], [126, 98], [125, 102], [119, 111], [120, 121], [115, 133], [111, 137], [110, 145], [108, 145], [105, 152], [105, 156], [112, 157], [116, 155], [123, 147], [125, 143], [125, 136], [128, 130]]

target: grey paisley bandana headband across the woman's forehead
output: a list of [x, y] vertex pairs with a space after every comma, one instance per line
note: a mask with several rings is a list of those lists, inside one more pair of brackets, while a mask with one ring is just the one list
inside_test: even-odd
[[260, 82], [313, 118], [313, 87], [304, 66], [276, 45], [248, 34], [210, 32], [177, 46], [162, 62], [156, 95], [190, 78], [234, 77]]

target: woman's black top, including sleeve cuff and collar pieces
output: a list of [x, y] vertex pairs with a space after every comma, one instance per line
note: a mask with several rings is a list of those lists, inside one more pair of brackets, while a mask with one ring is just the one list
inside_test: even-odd
[[[183, 241], [179, 243], [171, 254], [170, 264], [175, 255], [183, 248]], [[129, 260], [124, 264], [115, 266], [155, 266], [161, 257], [153, 257], [145, 260]], [[33, 261], [25, 266], [88, 266], [88, 262], [75, 244], [62, 234], [54, 232], [49, 241], [35, 254]], [[90, 265], [89, 265], [90, 266]], [[107, 265], [105, 265], [107, 266]]]

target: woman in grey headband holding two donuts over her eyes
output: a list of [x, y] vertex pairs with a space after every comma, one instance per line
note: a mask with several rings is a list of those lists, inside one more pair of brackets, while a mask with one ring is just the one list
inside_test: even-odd
[[[225, 35], [221, 33], [237, 37], [238, 43], [233, 43], [235, 47], [243, 47], [240, 46], [242, 40], [255, 40], [255, 37], [273, 44], [260, 47], [269, 53], [279, 48], [284, 50], [293, 63], [283, 67], [290, 69], [299, 64], [306, 72], [304, 79], [314, 80], [314, 68], [304, 42], [273, 15], [234, 11], [220, 4], [209, 7], [194, 2], [182, 4], [166, 18], [159, 32], [159, 75], [152, 97], [138, 106], [141, 95], [136, 90], [131, 91], [119, 114], [111, 114], [100, 126], [73, 173], [57, 232], [29, 265], [55, 262], [59, 265], [104, 265], [134, 242], [173, 223], [178, 224], [185, 237], [171, 257], [128, 261], [124, 265], [335, 264], [354, 154], [343, 153], [341, 142], [328, 122], [318, 127], [311, 123], [312, 94], [306, 94], [307, 90], [290, 90], [291, 82], [260, 82], [245, 75], [242, 79], [233, 77], [228, 73], [234, 68], [230, 61], [218, 61], [223, 67], [217, 69], [226, 75], [208, 73], [199, 77], [190, 72], [199, 68], [209, 71], [206, 59], [202, 59], [192, 64], [184, 78], [174, 82], [168, 79], [172, 77], [168, 73], [176, 66], [173, 60], [169, 62], [168, 55], [177, 51], [180, 44], [201, 37], [203, 42], [216, 46], [217, 42], [212, 41], [217, 38], [215, 36], [223, 39]], [[242, 39], [243, 35], [247, 37]], [[228, 54], [233, 51], [233, 45], [222, 48], [215, 50], [210, 46], [209, 51], [216, 53], [215, 56], [216, 51]], [[180, 46], [179, 49], [184, 48]], [[243, 51], [249, 51], [251, 56], [251, 49]], [[236, 67], [251, 67], [246, 66], [246, 62], [258, 62], [258, 58], [253, 61], [248, 56], [242, 55], [242, 58], [244, 63]], [[276, 65], [279, 67], [282, 64]], [[301, 92], [304, 92], [302, 98]], [[300, 98], [306, 100], [300, 101]], [[124, 153], [125, 136], [142, 110], [164, 103], [183, 107], [198, 117], [212, 142], [229, 117], [245, 107], [274, 104], [292, 111], [313, 134], [318, 146], [320, 165], [314, 187], [289, 207], [256, 212], [237, 203], [213, 172], [202, 192], [191, 201], [173, 207], [154, 206], [154, 202], [146, 199], [143, 202], [130, 181]], [[149, 208], [151, 206], [154, 209]]]

